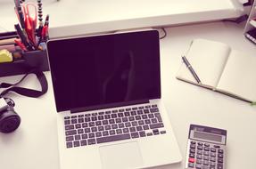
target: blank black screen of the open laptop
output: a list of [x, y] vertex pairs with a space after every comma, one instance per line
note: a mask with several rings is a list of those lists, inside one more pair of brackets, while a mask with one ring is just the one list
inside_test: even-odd
[[47, 52], [58, 112], [161, 97], [156, 30], [52, 40]]

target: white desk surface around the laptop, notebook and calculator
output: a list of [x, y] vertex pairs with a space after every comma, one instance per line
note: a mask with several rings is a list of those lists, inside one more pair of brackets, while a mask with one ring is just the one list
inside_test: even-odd
[[[194, 38], [220, 41], [230, 44], [233, 49], [255, 54], [255, 45], [244, 38], [243, 28], [229, 22], [166, 28], [168, 36], [161, 40], [162, 99], [183, 158], [189, 125], [210, 125], [227, 129], [227, 168], [252, 168], [255, 165], [256, 107], [175, 78], [181, 64], [180, 56]], [[11, 96], [16, 102], [15, 110], [21, 116], [21, 126], [14, 133], [0, 133], [1, 168], [59, 168], [54, 95], [50, 73], [45, 74], [50, 88], [40, 99]], [[2, 77], [0, 81], [15, 82], [20, 77]], [[39, 86], [34, 76], [29, 76], [29, 83], [24, 85]], [[155, 168], [182, 169], [184, 166], [185, 159], [179, 164]]]

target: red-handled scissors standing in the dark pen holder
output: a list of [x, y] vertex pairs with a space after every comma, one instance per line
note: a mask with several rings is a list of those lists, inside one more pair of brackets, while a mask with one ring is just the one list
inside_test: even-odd
[[37, 28], [37, 6], [32, 3], [22, 4], [22, 12], [25, 21], [25, 30], [29, 41], [36, 45], [36, 28]]

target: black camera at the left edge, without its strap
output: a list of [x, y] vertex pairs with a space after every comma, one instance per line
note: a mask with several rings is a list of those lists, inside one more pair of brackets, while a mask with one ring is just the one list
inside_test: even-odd
[[0, 132], [11, 133], [21, 124], [21, 117], [14, 111], [14, 101], [0, 98]]

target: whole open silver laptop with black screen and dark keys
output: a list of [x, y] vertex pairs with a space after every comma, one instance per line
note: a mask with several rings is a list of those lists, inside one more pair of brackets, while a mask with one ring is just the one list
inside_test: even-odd
[[181, 161], [161, 101], [156, 30], [50, 40], [62, 169]]

